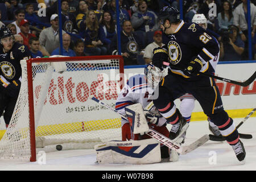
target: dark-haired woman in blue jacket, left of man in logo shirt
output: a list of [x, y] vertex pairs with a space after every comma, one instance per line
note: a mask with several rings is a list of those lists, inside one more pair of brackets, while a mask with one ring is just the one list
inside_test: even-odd
[[109, 11], [103, 13], [102, 22], [100, 24], [100, 40], [104, 46], [108, 49], [108, 55], [110, 54], [110, 43], [114, 35], [116, 34], [116, 26], [112, 15]]

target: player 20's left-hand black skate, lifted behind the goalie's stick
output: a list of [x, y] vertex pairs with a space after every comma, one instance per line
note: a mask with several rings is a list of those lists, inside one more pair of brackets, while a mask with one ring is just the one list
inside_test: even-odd
[[173, 142], [176, 142], [176, 140], [179, 139], [181, 135], [185, 133], [185, 131], [187, 131], [189, 126], [189, 124], [187, 123], [187, 120], [182, 117], [179, 110], [177, 110], [177, 113], [179, 115], [179, 121], [177, 121], [174, 125], [172, 125], [172, 129], [170, 130], [170, 134], [169, 134], [169, 138], [173, 140]]

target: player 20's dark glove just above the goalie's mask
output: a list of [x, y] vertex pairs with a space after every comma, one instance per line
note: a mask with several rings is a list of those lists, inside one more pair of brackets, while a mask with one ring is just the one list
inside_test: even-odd
[[168, 62], [168, 52], [164, 48], [154, 48], [153, 57], [152, 57], [152, 64], [156, 67], [160, 68], [162, 71], [163, 68], [166, 68], [166, 65], [163, 65], [163, 61]]

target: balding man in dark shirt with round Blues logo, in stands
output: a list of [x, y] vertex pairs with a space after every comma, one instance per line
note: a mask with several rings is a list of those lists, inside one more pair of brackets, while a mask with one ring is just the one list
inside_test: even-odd
[[[125, 65], [144, 64], [142, 38], [133, 32], [130, 20], [123, 22], [123, 31], [121, 32], [121, 55]], [[110, 44], [112, 55], [118, 55], [117, 35], [114, 36]]]

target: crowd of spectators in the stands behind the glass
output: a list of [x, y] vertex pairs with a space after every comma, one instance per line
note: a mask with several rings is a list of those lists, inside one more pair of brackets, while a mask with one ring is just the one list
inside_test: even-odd
[[[216, 16], [208, 15], [212, 2], [217, 7]], [[59, 55], [60, 24], [63, 55], [118, 54], [115, 0], [62, 0], [61, 22], [57, 3], [56, 0], [0, 0], [0, 27], [9, 27], [15, 41], [28, 46], [33, 57]], [[121, 54], [125, 65], [148, 63], [150, 44], [162, 45], [158, 14], [168, 5], [179, 9], [179, 0], [119, 0]], [[250, 1], [250, 10], [254, 59], [256, 1]], [[247, 0], [183, 1], [184, 22], [192, 22], [195, 14], [207, 18], [207, 31], [220, 43], [220, 61], [249, 59], [247, 13]]]

